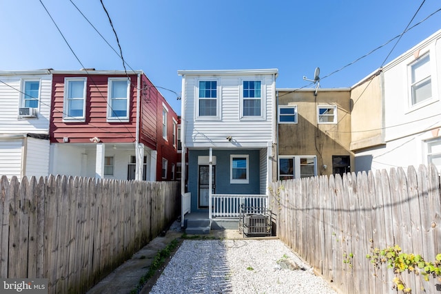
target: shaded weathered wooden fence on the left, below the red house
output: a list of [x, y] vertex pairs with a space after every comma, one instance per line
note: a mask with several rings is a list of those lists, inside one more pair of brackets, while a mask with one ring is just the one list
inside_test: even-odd
[[85, 293], [178, 216], [178, 182], [0, 179], [0, 277]]

